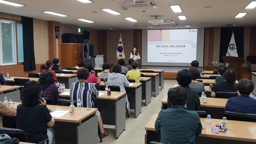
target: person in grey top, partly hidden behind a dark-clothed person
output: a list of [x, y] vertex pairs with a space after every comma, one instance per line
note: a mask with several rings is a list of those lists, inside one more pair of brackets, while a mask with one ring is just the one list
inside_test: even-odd
[[192, 90], [195, 90], [197, 92], [205, 92], [204, 83], [198, 82], [196, 80], [200, 76], [199, 70], [196, 67], [192, 66], [191, 68], [188, 69], [188, 71], [192, 74], [192, 81], [191, 81], [191, 83], [188, 86]]

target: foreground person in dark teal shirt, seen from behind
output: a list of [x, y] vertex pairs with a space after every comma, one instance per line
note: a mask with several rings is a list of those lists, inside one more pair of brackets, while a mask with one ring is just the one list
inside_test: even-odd
[[171, 108], [161, 110], [155, 122], [156, 132], [161, 132], [160, 143], [195, 144], [195, 138], [202, 132], [202, 123], [197, 112], [188, 110], [188, 94], [178, 86], [168, 90]]

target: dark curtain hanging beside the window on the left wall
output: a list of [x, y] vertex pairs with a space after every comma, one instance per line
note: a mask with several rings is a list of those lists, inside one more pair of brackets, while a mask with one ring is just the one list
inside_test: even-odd
[[24, 71], [36, 70], [33, 18], [22, 16]]

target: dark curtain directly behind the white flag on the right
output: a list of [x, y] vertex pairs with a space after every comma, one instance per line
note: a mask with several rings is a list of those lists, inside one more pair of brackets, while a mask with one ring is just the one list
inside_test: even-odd
[[228, 45], [232, 36], [232, 31], [234, 31], [235, 34], [238, 57], [244, 57], [244, 27], [221, 28], [219, 62], [223, 63], [222, 56], [226, 56]]

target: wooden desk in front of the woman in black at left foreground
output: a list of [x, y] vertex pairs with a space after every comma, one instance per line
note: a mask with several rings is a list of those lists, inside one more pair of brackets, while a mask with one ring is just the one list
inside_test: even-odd
[[[18, 104], [20, 102], [15, 102], [14, 108], [17, 108]], [[47, 105], [47, 108], [69, 111], [69, 106]], [[73, 116], [68, 112], [60, 118], [54, 118], [55, 124], [52, 128], [55, 132], [56, 144], [98, 143], [97, 110], [97, 108], [81, 108], [81, 111]]]

